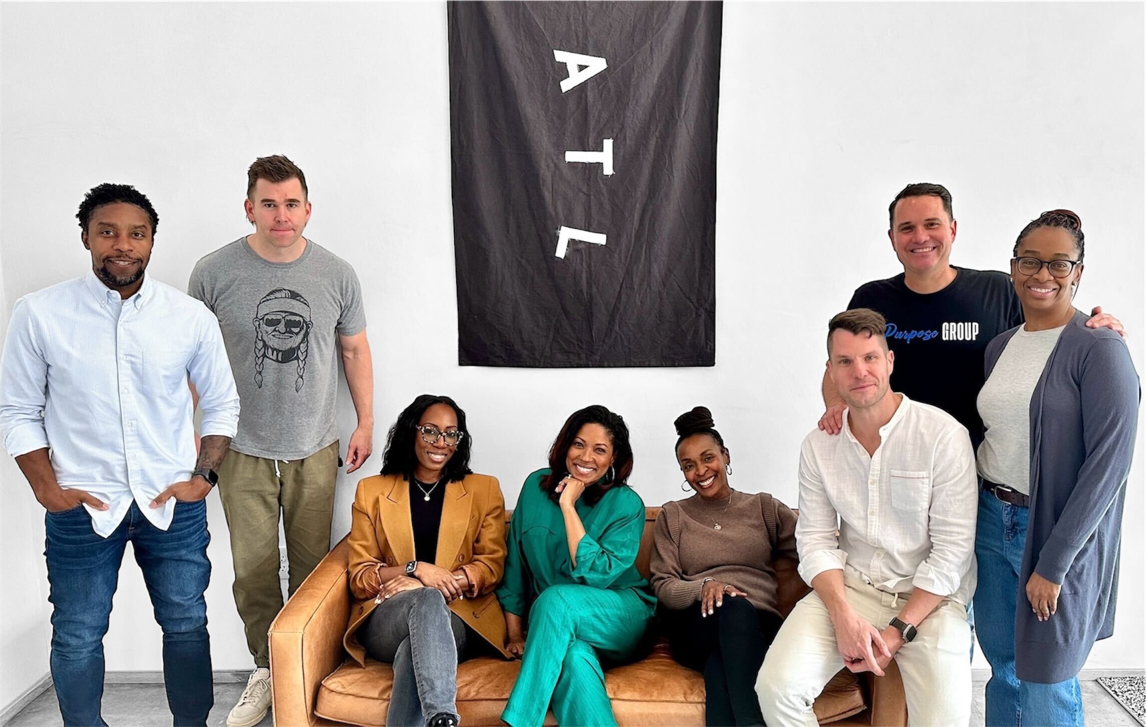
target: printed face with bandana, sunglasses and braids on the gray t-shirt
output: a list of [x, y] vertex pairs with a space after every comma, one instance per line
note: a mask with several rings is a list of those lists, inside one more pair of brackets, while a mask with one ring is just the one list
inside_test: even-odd
[[314, 322], [311, 305], [300, 294], [286, 288], [275, 288], [259, 300], [254, 313], [254, 384], [262, 388], [262, 367], [267, 360], [275, 364], [295, 364], [298, 377], [295, 392], [306, 383], [306, 353]]

